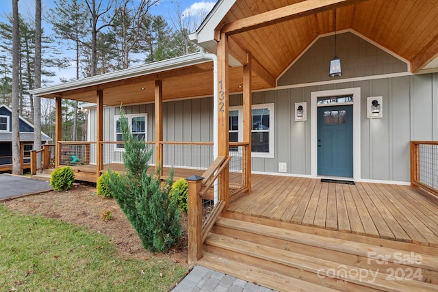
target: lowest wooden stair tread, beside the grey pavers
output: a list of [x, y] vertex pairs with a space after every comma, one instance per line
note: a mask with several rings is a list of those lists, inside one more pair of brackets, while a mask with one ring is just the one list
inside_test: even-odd
[[266, 287], [276, 287], [276, 289], [280, 289], [281, 291], [337, 291], [318, 284], [285, 276], [274, 271], [259, 269], [228, 258], [223, 258], [222, 256], [217, 256], [211, 252], [204, 252], [203, 258], [198, 261], [198, 265], [216, 271], [222, 271], [230, 276], [241, 278], [243, 280], [251, 281], [251, 279], [248, 278], [248, 275], [255, 275], [257, 276], [257, 284]]

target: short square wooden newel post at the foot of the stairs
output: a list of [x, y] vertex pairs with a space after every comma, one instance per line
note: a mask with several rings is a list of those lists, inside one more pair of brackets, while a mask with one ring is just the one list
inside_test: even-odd
[[203, 207], [199, 191], [202, 176], [185, 178], [188, 183], [188, 262], [194, 265], [203, 257]]

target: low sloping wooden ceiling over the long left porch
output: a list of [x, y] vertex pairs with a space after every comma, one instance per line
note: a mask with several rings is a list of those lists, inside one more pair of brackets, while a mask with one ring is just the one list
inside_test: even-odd
[[[243, 68], [230, 68], [230, 92], [241, 92]], [[163, 81], [163, 100], [213, 95], [213, 62], [205, 62], [175, 70], [125, 78], [118, 81], [83, 86], [74, 90], [60, 90], [45, 94], [47, 98], [67, 98], [75, 101], [96, 103], [96, 91], [103, 90], [105, 105], [130, 105], [153, 103], [155, 80]], [[268, 88], [269, 85], [253, 73], [253, 88]]]

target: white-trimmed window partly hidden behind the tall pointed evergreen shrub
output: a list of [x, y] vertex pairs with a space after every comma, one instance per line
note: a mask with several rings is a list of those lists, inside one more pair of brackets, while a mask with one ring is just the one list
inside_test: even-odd
[[[127, 114], [125, 117], [128, 120], [129, 129], [131, 129], [131, 133], [133, 137], [136, 137], [138, 140], [147, 139], [147, 120], [148, 114]], [[114, 137], [116, 141], [122, 140], [122, 131], [120, 129], [120, 116], [114, 116]], [[116, 150], [125, 149], [124, 144], [116, 144]]]

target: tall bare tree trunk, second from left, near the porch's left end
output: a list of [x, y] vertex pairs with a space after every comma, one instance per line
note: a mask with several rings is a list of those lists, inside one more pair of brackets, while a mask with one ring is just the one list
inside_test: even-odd
[[[35, 88], [41, 87], [41, 0], [35, 1]], [[32, 98], [32, 96], [31, 96]], [[34, 97], [34, 150], [41, 149], [41, 98]], [[36, 157], [36, 167], [41, 167], [41, 157]]]

